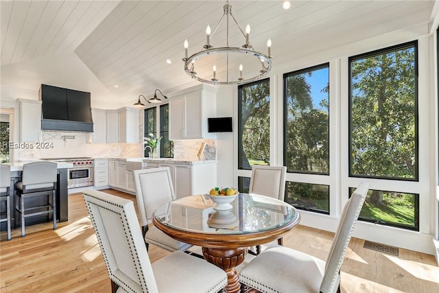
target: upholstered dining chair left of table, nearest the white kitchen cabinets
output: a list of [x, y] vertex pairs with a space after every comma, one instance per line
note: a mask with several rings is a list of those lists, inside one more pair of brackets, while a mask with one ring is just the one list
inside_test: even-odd
[[186, 251], [192, 244], [180, 242], [169, 237], [152, 224], [152, 213], [163, 204], [176, 199], [172, 185], [169, 167], [134, 170], [134, 185], [136, 186], [137, 207], [142, 225], [142, 234], [146, 249], [154, 244], [168, 251]]

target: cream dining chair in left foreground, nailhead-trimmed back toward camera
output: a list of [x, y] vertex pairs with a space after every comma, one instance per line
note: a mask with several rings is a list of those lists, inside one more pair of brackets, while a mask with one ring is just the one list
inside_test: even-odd
[[150, 262], [132, 200], [83, 192], [112, 292], [218, 292], [227, 285], [224, 270], [175, 251]]

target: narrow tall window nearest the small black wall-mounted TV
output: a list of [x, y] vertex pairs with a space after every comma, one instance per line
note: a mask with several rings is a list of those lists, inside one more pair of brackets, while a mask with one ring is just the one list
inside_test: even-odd
[[238, 168], [270, 165], [270, 80], [238, 87]]

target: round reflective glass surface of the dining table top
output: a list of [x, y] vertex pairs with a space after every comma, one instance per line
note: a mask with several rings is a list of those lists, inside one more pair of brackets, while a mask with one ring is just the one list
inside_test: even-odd
[[238, 194], [230, 205], [217, 211], [208, 194], [199, 194], [168, 202], [153, 217], [175, 230], [215, 235], [261, 233], [299, 220], [294, 207], [267, 196]]

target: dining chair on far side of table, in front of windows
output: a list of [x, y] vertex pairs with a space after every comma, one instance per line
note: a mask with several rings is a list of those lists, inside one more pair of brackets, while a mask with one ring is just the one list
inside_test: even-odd
[[[252, 165], [252, 177], [250, 178], [249, 194], [259, 194], [260, 196], [270, 196], [278, 200], [285, 200], [285, 166], [265, 166]], [[277, 239], [279, 245], [283, 245], [283, 237]], [[256, 252], [250, 253], [259, 255], [261, 246], [256, 246]]]

